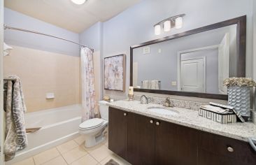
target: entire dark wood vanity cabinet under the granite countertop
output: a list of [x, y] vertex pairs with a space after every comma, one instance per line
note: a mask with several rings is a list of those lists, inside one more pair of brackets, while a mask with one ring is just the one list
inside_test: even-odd
[[249, 143], [117, 108], [108, 130], [108, 148], [134, 165], [256, 164]]

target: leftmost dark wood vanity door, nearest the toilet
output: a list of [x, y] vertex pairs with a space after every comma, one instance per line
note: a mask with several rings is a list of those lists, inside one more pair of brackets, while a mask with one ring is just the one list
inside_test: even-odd
[[124, 159], [127, 159], [127, 116], [123, 110], [111, 107], [108, 110], [108, 148]]

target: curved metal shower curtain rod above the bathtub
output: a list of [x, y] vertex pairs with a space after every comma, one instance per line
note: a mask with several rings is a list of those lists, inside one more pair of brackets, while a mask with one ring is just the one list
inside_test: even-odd
[[[40, 35], [43, 35], [43, 36], [50, 36], [52, 38], [58, 38], [58, 39], [61, 39], [61, 40], [64, 40], [64, 41], [75, 43], [76, 45], [80, 45], [82, 47], [89, 48], [87, 45], [82, 45], [80, 43], [76, 43], [75, 41], [71, 41], [71, 40], [68, 40], [66, 38], [61, 38], [61, 37], [58, 37], [58, 36], [52, 36], [52, 35], [49, 35], [49, 34], [43, 34], [43, 33], [38, 32], [38, 31], [31, 31], [31, 30], [27, 30], [27, 29], [20, 29], [20, 28], [17, 28], [17, 27], [9, 27], [6, 24], [3, 24], [3, 28], [4, 29], [17, 30], [17, 31], [25, 31], [25, 32], [33, 33], [33, 34], [40, 34]], [[92, 52], [94, 52], [94, 49], [92, 49], [92, 48], [89, 48], [89, 49], [92, 50]]]

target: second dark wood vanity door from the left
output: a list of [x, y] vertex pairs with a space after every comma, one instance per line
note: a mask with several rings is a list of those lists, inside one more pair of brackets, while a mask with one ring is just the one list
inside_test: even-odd
[[150, 118], [128, 115], [128, 162], [133, 165], [155, 164], [155, 125]]

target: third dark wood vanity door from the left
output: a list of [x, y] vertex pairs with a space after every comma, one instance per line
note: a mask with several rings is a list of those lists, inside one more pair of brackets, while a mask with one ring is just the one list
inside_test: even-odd
[[197, 130], [160, 121], [155, 127], [155, 164], [197, 164]]

